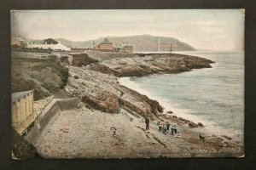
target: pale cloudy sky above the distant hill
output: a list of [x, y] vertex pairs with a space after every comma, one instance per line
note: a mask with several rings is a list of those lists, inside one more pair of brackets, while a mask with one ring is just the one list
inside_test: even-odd
[[26, 39], [175, 37], [197, 49], [243, 50], [243, 9], [14, 10], [11, 32]]

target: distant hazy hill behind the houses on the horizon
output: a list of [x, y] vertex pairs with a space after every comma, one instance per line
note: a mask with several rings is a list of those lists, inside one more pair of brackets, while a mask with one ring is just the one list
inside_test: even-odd
[[[64, 38], [54, 38], [57, 41], [63, 42], [68, 47], [72, 48], [92, 48], [92, 43], [96, 44], [103, 41], [104, 37], [99, 37], [94, 40], [87, 40], [83, 42], [73, 42]], [[108, 37], [113, 45], [122, 44], [123, 42], [128, 42], [133, 45], [135, 52], [157, 52], [158, 51], [158, 40], [160, 39], [160, 51], [170, 51], [170, 46], [172, 44], [173, 51], [194, 51], [196, 50], [189, 44], [185, 42], [180, 42], [178, 39], [173, 37], [156, 37], [151, 35], [141, 35], [141, 36], [127, 36], [127, 37]]]

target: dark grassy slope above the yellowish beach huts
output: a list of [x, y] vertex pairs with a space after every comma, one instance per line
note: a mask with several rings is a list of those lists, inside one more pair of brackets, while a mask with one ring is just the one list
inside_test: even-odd
[[34, 99], [57, 93], [67, 83], [68, 69], [56, 59], [12, 58], [12, 92], [34, 90]]

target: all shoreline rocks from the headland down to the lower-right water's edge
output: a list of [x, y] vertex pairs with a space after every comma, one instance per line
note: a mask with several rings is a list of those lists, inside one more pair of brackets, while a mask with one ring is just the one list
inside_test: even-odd
[[[82, 55], [82, 54], [80, 54]], [[196, 128], [203, 128], [201, 122], [191, 122], [183, 117], [172, 116], [163, 113], [163, 107], [158, 101], [148, 99], [130, 88], [119, 84], [119, 77], [142, 77], [150, 74], [179, 73], [192, 69], [211, 68], [212, 60], [183, 54], [83, 54], [93, 60], [86, 65], [67, 65], [70, 77], [65, 90], [72, 97], [78, 97], [82, 106], [91, 111], [102, 111], [119, 114], [122, 111], [143, 119], [148, 116], [152, 122], [159, 120], [177, 124], [183, 133], [183, 140], [191, 144], [198, 144], [199, 148], [221, 149], [223, 147], [236, 148], [239, 156], [243, 146], [238, 141], [233, 141], [228, 136], [210, 134], [207, 142], [201, 143], [199, 132]], [[76, 59], [76, 57], [73, 57]], [[81, 56], [79, 63], [83, 63]], [[90, 60], [91, 60], [90, 59]], [[127, 120], [128, 121], [128, 120]], [[197, 156], [202, 156], [197, 153]], [[227, 156], [227, 155], [225, 155]], [[229, 156], [232, 156], [229, 155]], [[237, 155], [236, 155], [237, 156]]]

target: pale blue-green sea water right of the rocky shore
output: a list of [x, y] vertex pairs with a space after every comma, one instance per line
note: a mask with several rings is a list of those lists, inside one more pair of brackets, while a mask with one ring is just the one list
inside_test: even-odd
[[244, 52], [179, 52], [212, 59], [212, 68], [178, 74], [124, 77], [119, 82], [150, 99], [165, 111], [202, 122], [204, 133], [226, 134], [243, 140]]

